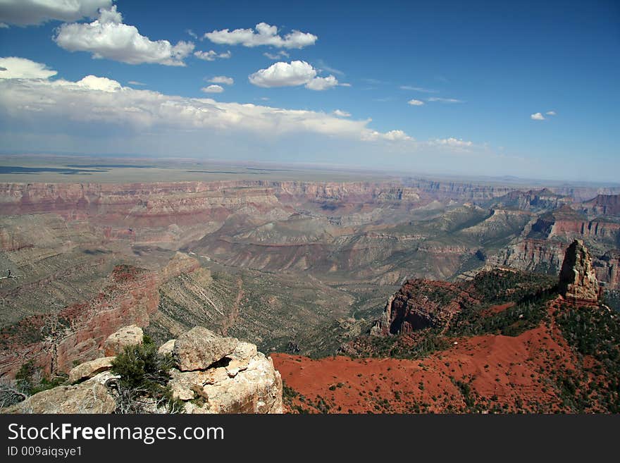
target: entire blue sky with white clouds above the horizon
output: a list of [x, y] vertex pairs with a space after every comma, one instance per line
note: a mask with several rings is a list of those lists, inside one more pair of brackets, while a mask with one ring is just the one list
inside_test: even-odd
[[620, 4], [0, 0], [0, 150], [620, 178]]

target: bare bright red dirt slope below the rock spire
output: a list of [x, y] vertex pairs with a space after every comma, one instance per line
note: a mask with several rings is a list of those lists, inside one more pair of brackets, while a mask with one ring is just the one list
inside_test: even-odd
[[[309, 412], [466, 412], [462, 386], [490, 402], [486, 412], [553, 412], [562, 401], [547, 381], [559, 365], [574, 368], [574, 354], [555, 328], [538, 326], [516, 337], [483, 335], [459, 338], [450, 349], [426, 359], [313, 360], [271, 354], [285, 384], [304, 396], [289, 411]], [[471, 410], [470, 410], [471, 411]]]

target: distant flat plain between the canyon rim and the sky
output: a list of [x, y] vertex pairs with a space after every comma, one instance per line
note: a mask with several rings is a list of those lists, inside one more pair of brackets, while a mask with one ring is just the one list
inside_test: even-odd
[[554, 186], [620, 187], [620, 183], [587, 183], [504, 177], [438, 175], [406, 171], [364, 170], [304, 163], [172, 159], [129, 156], [0, 154], [2, 183], [151, 183], [268, 180], [301, 182], [381, 182], [423, 178], [442, 182], [510, 186], [515, 190]]

